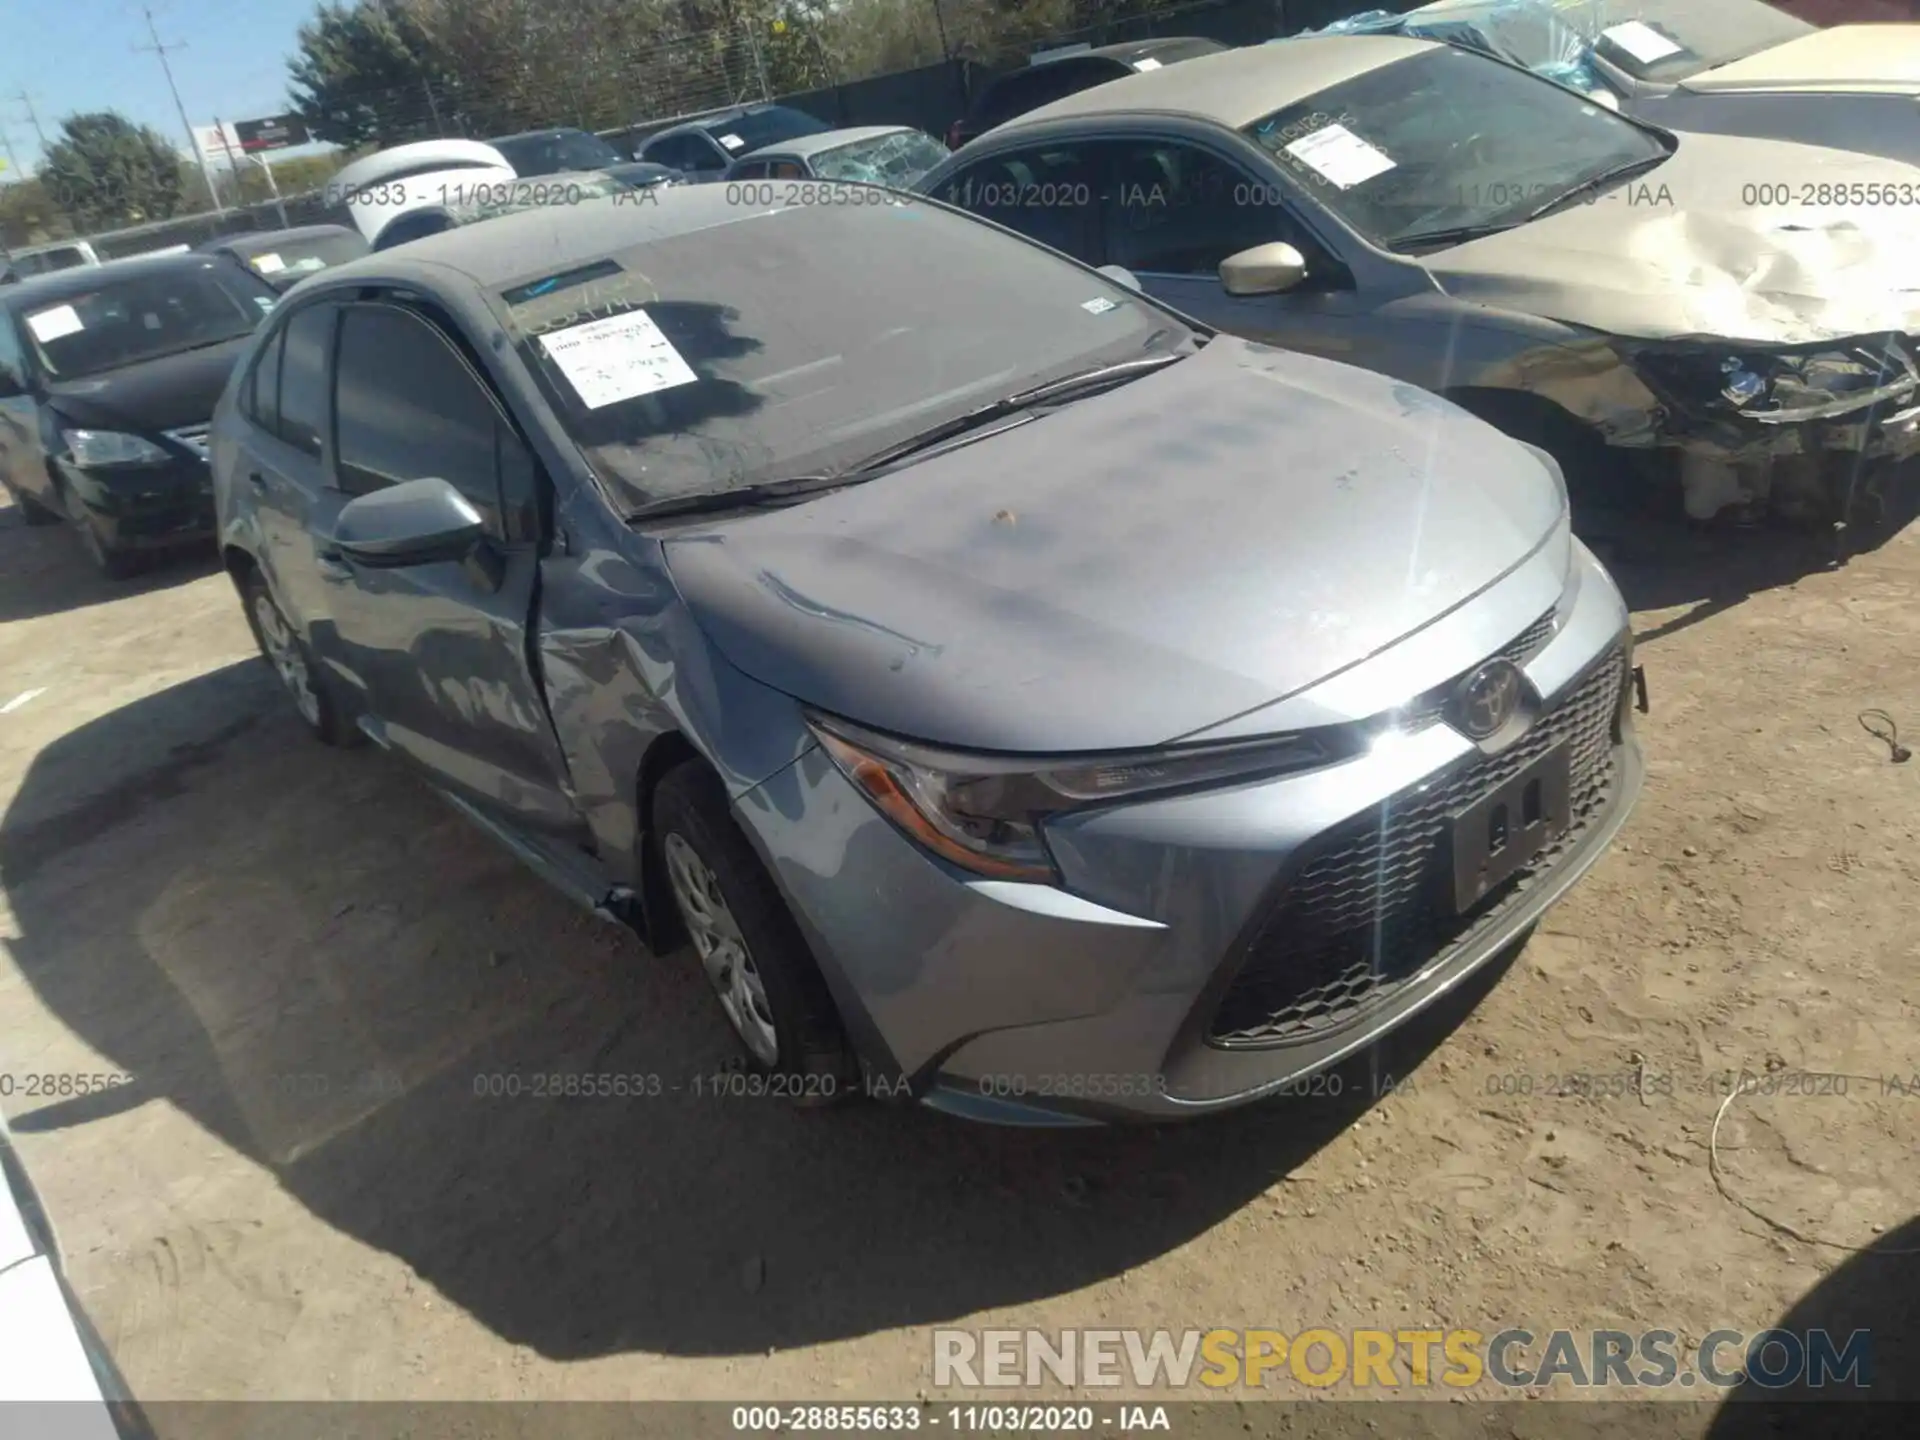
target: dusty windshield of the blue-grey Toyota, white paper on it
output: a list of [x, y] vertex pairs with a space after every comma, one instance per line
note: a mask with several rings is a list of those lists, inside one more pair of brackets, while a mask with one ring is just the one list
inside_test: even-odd
[[501, 294], [522, 359], [620, 499], [837, 472], [1192, 334], [1052, 252], [872, 194], [580, 259]]

